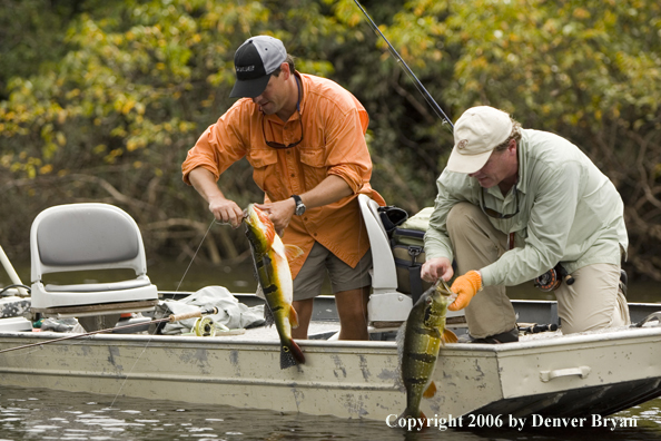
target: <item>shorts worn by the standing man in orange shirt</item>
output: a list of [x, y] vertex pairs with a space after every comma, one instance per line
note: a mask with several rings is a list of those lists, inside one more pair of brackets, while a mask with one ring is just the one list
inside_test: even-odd
[[372, 284], [372, 252], [367, 251], [355, 268], [342, 262], [325, 246], [315, 242], [303, 267], [294, 280], [294, 300], [313, 298], [322, 294], [326, 274], [333, 294], [357, 290]]

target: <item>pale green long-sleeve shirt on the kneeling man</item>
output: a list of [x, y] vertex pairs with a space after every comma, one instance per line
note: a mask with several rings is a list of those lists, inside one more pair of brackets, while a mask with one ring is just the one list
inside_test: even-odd
[[[489, 217], [497, 231], [515, 233], [515, 247], [483, 268], [482, 284], [517, 285], [562, 262], [569, 273], [592, 264], [620, 265], [629, 239], [624, 205], [610, 179], [573, 144], [545, 131], [523, 129], [519, 143], [520, 212], [510, 219]], [[438, 195], [425, 234], [427, 261], [454, 258], [445, 225], [460, 202], [480, 206], [477, 179], [445, 169], [437, 179]], [[484, 189], [485, 206], [515, 213], [510, 190]]]

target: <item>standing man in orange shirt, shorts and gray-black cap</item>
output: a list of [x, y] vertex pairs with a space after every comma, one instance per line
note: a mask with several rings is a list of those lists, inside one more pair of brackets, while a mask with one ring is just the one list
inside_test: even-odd
[[299, 74], [283, 42], [259, 36], [246, 40], [234, 58], [241, 97], [200, 136], [182, 164], [184, 182], [208, 202], [217, 220], [240, 225], [243, 210], [227, 199], [217, 180], [246, 157], [265, 193], [268, 213], [285, 244], [303, 257], [290, 263], [294, 308], [306, 339], [314, 297], [326, 272], [341, 322], [339, 339], [367, 340], [372, 254], [357, 196], [385, 202], [369, 186], [372, 160], [365, 143], [369, 118], [339, 85]]

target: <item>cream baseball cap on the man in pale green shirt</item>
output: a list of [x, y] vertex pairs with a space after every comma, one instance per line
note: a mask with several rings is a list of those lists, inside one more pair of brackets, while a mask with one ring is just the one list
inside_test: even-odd
[[489, 106], [472, 107], [454, 125], [454, 148], [447, 169], [475, 173], [489, 160], [493, 149], [512, 134], [512, 119]]

